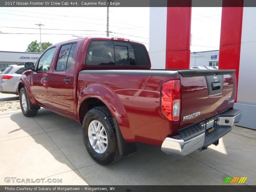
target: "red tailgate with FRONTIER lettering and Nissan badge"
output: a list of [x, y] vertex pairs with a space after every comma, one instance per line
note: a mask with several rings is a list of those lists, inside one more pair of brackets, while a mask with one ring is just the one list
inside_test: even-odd
[[179, 70], [180, 129], [202, 122], [234, 106], [235, 70]]

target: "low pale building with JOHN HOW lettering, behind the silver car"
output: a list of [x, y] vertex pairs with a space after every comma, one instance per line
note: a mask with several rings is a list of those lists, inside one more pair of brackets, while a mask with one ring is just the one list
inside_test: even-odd
[[0, 70], [4, 71], [9, 65], [33, 62], [40, 57], [41, 53], [0, 51]]

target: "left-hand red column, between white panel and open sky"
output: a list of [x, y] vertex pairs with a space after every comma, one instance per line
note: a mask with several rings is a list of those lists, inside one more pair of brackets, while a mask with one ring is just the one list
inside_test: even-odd
[[[184, 7], [177, 7], [180, 4]], [[166, 69], [188, 69], [190, 61], [191, 0], [167, 2]]]

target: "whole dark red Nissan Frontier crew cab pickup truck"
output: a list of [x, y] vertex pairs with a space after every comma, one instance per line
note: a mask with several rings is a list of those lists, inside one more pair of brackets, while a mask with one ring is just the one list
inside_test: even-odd
[[152, 70], [144, 45], [84, 37], [25, 63], [18, 85], [25, 116], [40, 107], [82, 124], [99, 164], [136, 151], [136, 142], [188, 155], [218, 145], [242, 112], [233, 109], [235, 70]]

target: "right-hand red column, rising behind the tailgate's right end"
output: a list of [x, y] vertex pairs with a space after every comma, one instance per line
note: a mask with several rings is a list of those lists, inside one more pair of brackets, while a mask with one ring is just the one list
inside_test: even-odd
[[[223, 0], [219, 69], [236, 69], [236, 82], [238, 82], [244, 2], [238, 0], [236, 3], [237, 7], [227, 7], [231, 4], [230, 0]], [[237, 85], [238, 83], [236, 90]]]

